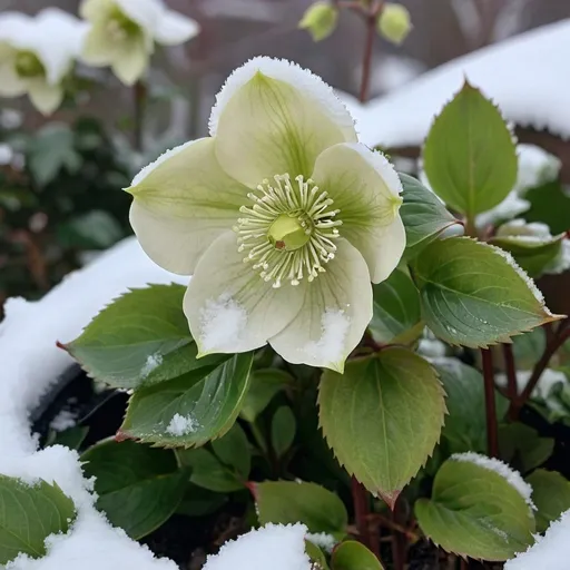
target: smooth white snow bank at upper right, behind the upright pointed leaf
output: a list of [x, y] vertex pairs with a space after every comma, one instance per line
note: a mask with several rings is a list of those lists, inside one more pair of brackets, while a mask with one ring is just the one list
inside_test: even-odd
[[364, 107], [345, 102], [364, 144], [417, 146], [466, 77], [507, 119], [570, 138], [569, 52], [570, 19], [458, 58]]

